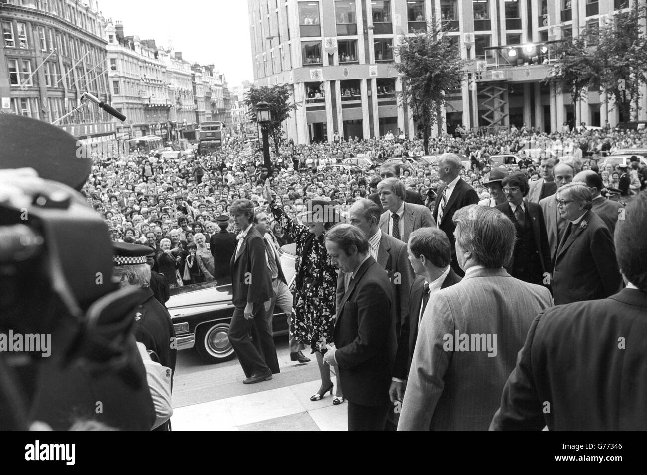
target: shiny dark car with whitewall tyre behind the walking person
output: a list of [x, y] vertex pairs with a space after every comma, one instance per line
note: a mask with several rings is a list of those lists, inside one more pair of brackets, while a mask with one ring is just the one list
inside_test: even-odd
[[[294, 279], [296, 244], [286, 244], [279, 251], [281, 267], [288, 284]], [[227, 333], [234, 315], [231, 277], [214, 282], [191, 284], [171, 289], [166, 302], [175, 328], [178, 350], [195, 348], [208, 363], [219, 363], [234, 357]], [[287, 334], [285, 312], [274, 308], [274, 336]]]

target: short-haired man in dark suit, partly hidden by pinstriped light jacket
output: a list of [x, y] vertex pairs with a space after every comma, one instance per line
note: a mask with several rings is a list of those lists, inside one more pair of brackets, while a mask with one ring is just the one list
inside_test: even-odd
[[430, 295], [461, 281], [450, 267], [452, 248], [447, 235], [437, 227], [422, 227], [411, 233], [407, 246], [409, 262], [415, 272], [415, 280], [408, 298], [407, 313], [402, 319], [402, 330], [395, 354], [395, 367], [391, 377], [389, 396], [391, 403], [402, 403], [418, 324]]

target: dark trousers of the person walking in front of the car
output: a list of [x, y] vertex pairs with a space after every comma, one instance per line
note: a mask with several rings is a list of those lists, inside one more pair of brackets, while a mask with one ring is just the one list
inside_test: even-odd
[[[265, 312], [265, 307], [263, 304], [258, 304], [258, 309], [254, 310], [254, 318], [251, 320], [245, 319], [245, 307], [236, 307], [234, 308], [234, 315], [232, 316], [232, 322], [229, 325], [229, 341], [232, 342], [234, 346], [234, 352], [238, 357], [238, 361], [243, 366], [243, 371], [245, 376], [250, 377], [254, 373], [264, 373], [269, 370], [267, 364], [265, 363], [265, 358], [261, 352], [259, 352], [258, 347], [252, 341], [252, 329], [254, 328], [254, 323], [256, 320], [262, 321], [259, 322], [258, 327], [260, 331], [258, 332], [259, 339], [267, 339], [269, 335], [270, 344], [274, 348], [274, 341], [272, 340], [272, 335], [269, 333], [269, 328], [267, 328], [267, 323], [263, 320], [263, 313]], [[267, 345], [265, 343], [261, 343]], [[274, 350], [274, 357], [276, 357], [276, 350]]]

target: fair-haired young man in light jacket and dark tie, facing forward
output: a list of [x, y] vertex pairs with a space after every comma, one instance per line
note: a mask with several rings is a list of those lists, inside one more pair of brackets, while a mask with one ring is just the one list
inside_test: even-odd
[[436, 226], [428, 207], [404, 202], [404, 185], [397, 178], [382, 180], [377, 185], [377, 193], [382, 207], [386, 209], [380, 216], [380, 229], [383, 233], [404, 242], [405, 246], [411, 231], [420, 227]]

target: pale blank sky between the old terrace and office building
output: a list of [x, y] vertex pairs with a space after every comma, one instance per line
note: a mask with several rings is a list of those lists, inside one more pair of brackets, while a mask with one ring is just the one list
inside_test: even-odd
[[125, 36], [173, 42], [182, 58], [214, 63], [229, 87], [253, 81], [247, 0], [98, 0], [105, 19], [124, 24]]

